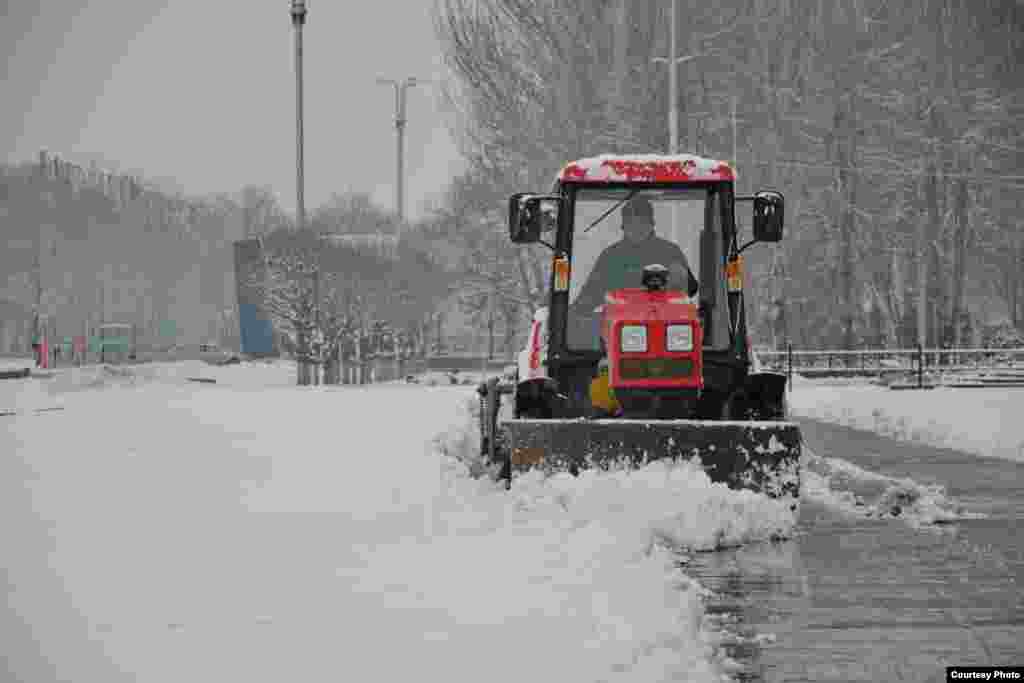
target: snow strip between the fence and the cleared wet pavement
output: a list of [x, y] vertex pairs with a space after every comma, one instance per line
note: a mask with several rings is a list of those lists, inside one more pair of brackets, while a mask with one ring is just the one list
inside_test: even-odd
[[893, 438], [1024, 462], [1024, 389], [993, 387], [893, 391], [880, 386], [798, 380], [794, 415]]

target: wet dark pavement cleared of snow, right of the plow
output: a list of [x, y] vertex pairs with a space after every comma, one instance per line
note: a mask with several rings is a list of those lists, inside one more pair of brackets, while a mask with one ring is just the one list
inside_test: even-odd
[[805, 468], [827, 486], [805, 497], [795, 537], [685, 565], [712, 591], [735, 679], [944, 681], [947, 666], [1024, 664], [1024, 464], [801, 424]]

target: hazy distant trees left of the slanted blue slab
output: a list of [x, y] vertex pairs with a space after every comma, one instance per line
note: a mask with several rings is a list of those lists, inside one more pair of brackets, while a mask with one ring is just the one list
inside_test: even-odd
[[28, 324], [5, 322], [22, 328], [23, 348], [40, 327], [73, 336], [111, 322], [150, 338], [174, 321], [177, 341], [208, 341], [233, 299], [231, 199], [170, 197], [47, 161], [0, 168], [0, 296], [27, 312]]

